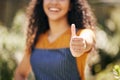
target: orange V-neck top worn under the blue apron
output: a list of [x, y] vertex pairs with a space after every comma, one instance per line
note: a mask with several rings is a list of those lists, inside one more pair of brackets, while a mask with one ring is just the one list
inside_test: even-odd
[[[77, 34], [80, 34], [82, 30], [79, 30]], [[38, 38], [38, 42], [36, 44], [36, 48], [43, 49], [55, 49], [55, 48], [69, 48], [71, 38], [71, 30], [70, 28], [60, 35], [54, 42], [50, 43], [48, 40], [48, 32], [45, 34], [41, 34]], [[84, 53], [82, 56], [76, 58], [78, 72], [80, 73], [80, 77], [82, 80], [85, 80], [84, 70], [86, 64], [86, 58], [88, 53]]]

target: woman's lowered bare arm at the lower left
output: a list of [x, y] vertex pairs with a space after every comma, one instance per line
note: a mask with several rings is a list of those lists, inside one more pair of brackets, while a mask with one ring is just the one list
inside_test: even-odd
[[30, 70], [30, 54], [25, 54], [23, 60], [15, 71], [14, 80], [26, 80]]

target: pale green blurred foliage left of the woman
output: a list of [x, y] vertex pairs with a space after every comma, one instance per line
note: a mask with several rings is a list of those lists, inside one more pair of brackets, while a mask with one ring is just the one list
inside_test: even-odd
[[18, 12], [13, 27], [0, 26], [0, 80], [12, 80], [18, 60], [15, 54], [23, 52], [25, 37], [22, 30], [24, 13]]

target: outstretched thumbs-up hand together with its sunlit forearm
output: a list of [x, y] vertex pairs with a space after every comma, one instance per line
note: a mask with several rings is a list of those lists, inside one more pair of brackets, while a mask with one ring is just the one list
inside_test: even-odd
[[90, 29], [83, 29], [77, 36], [75, 24], [72, 24], [71, 33], [70, 50], [74, 57], [80, 57], [94, 45], [95, 35]]

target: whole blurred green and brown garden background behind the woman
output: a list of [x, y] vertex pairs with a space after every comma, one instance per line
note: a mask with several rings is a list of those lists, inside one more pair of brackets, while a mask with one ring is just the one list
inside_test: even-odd
[[[0, 0], [0, 80], [13, 80], [23, 57], [29, 1]], [[96, 47], [100, 58], [91, 74], [95, 80], [120, 80], [120, 0], [88, 1], [98, 22]], [[34, 80], [32, 73], [29, 80]]]

